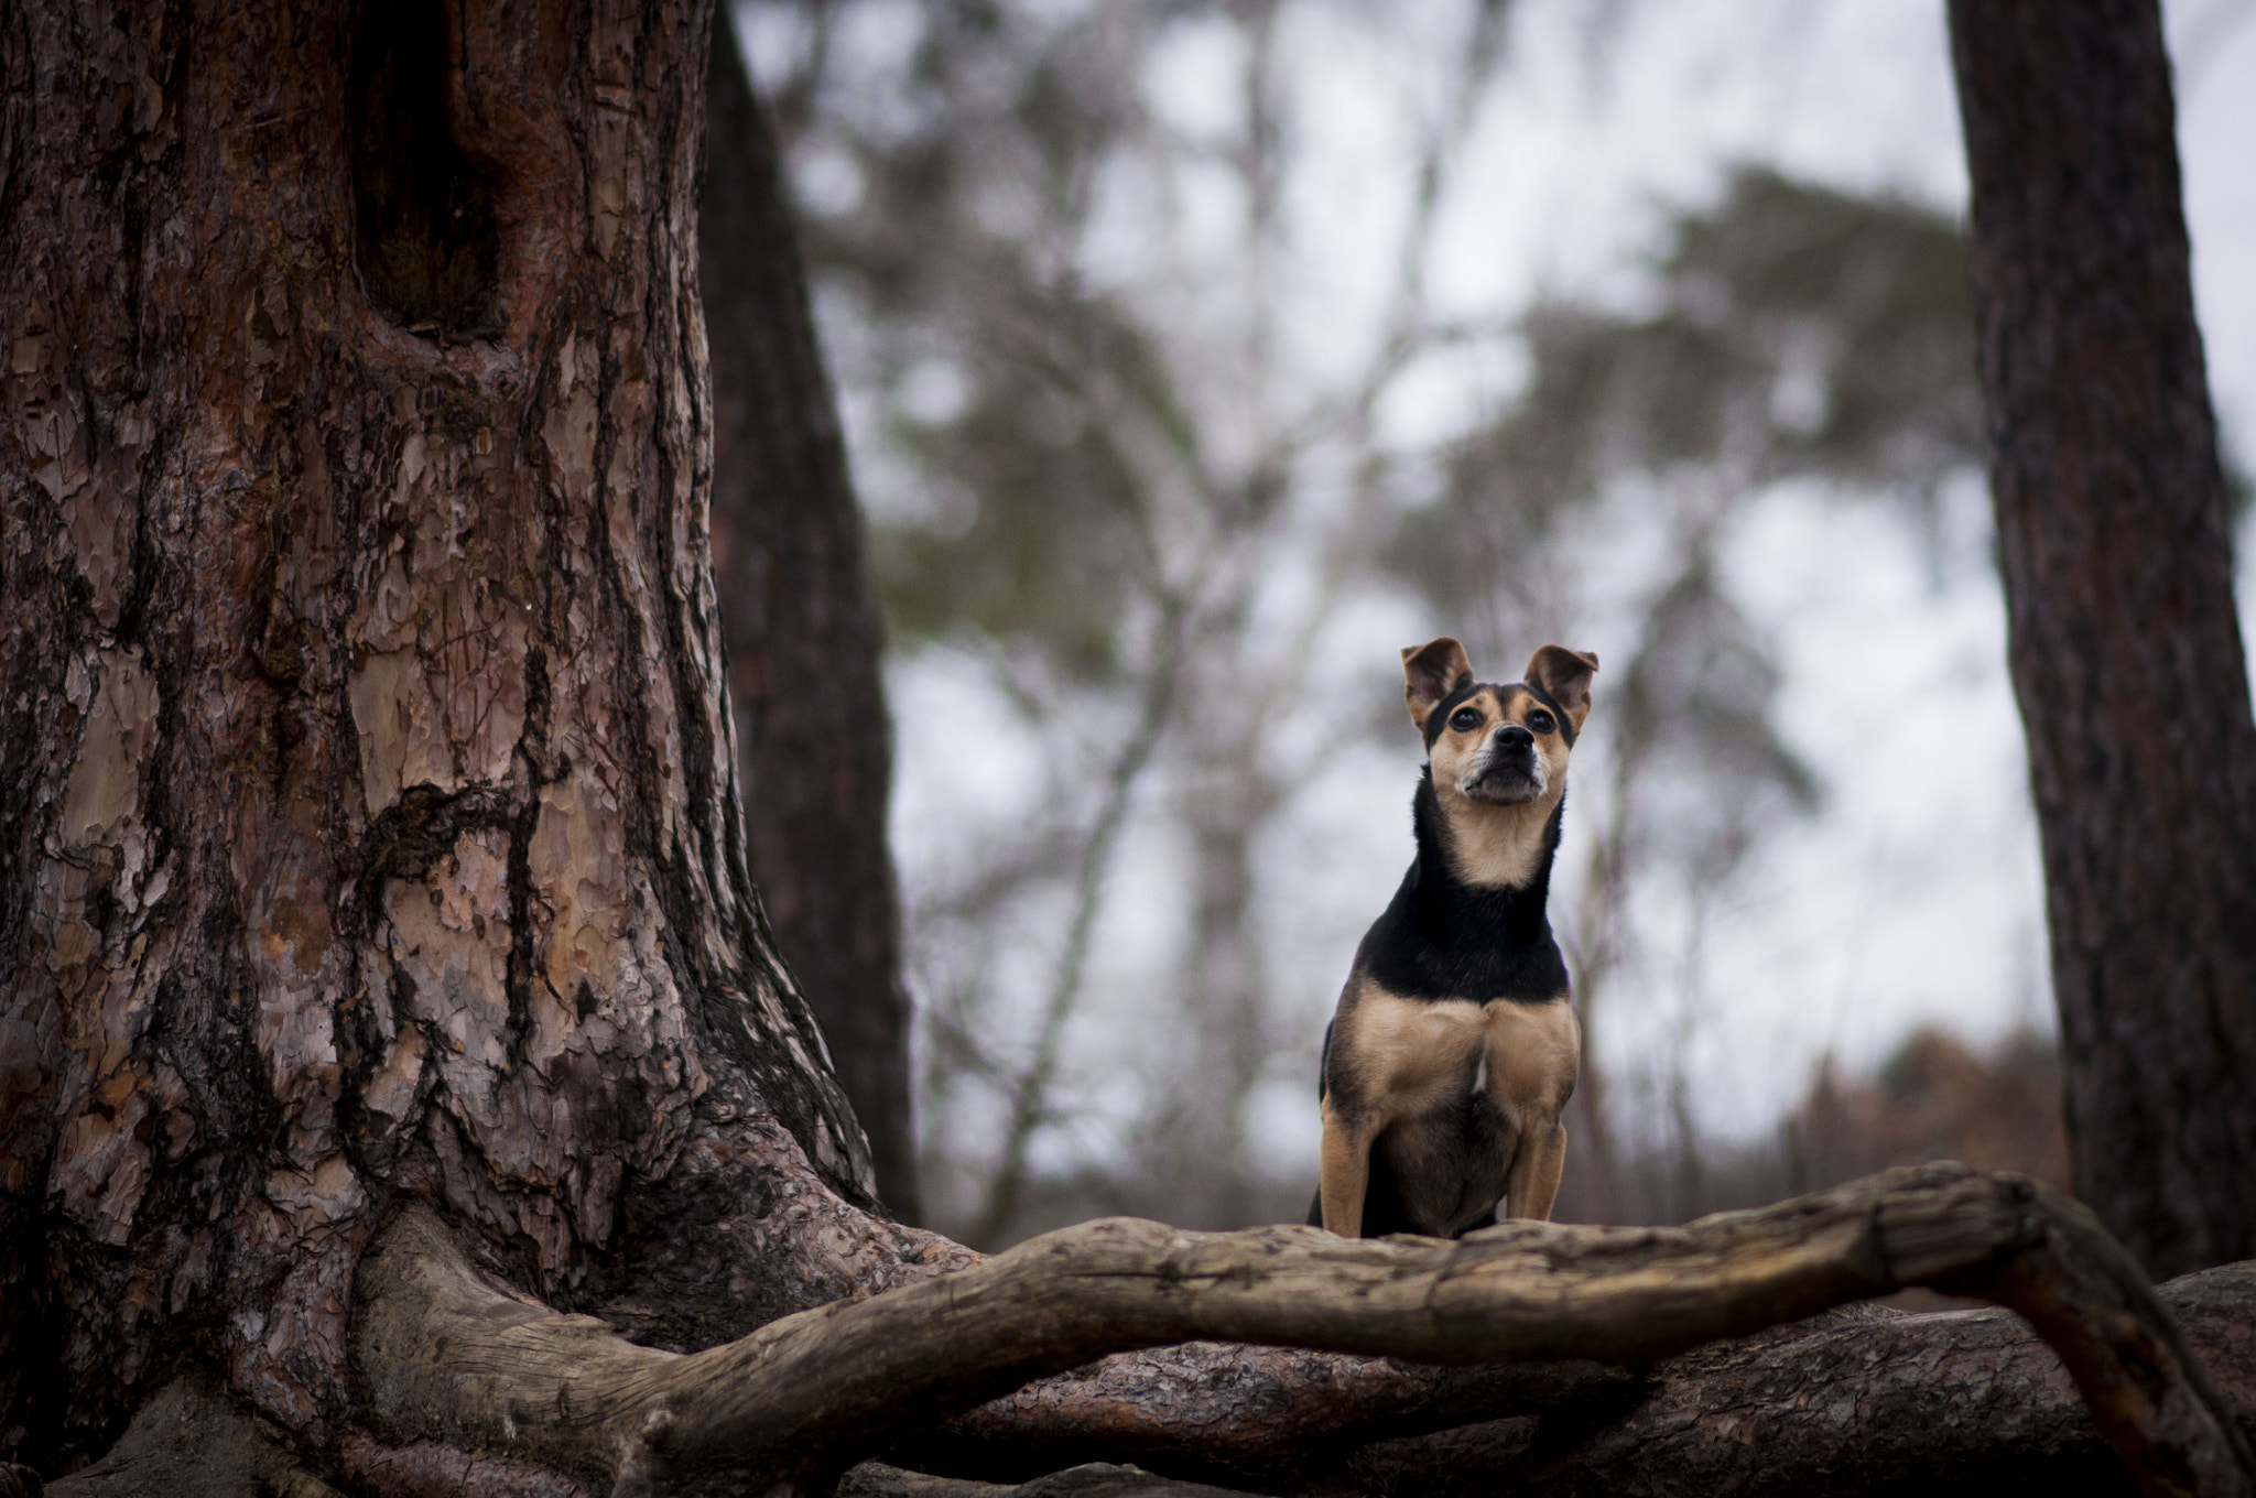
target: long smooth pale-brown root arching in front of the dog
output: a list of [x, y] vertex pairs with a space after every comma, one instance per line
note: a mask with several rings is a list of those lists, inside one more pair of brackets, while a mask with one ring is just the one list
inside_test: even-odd
[[1119, 1349], [1642, 1365], [1904, 1286], [2028, 1318], [2145, 1491], [2256, 1496], [2229, 1406], [2130, 1257], [2076, 1202], [1958, 1166], [1690, 1227], [1514, 1223], [1460, 1243], [1108, 1218], [688, 1356], [499, 1288], [417, 1207], [361, 1266], [354, 1363], [388, 1439], [632, 1496], [724, 1469], [823, 1484], [905, 1428]]

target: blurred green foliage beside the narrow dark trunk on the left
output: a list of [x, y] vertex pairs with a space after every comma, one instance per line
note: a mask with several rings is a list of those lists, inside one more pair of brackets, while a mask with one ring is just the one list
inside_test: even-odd
[[[819, 7], [810, 52], [857, 9], [875, 7]], [[810, 259], [862, 309], [860, 384], [934, 501], [878, 523], [896, 643], [970, 632], [1067, 679], [1119, 675], [1153, 499], [1114, 406], [1160, 444], [1191, 438], [1148, 332], [1083, 280], [1074, 246], [1099, 169], [1139, 129], [1133, 61], [1166, 9], [1036, 18], [950, 0], [914, 11], [909, 56], [875, 88], [855, 90], [844, 63], [828, 99], [803, 83], [803, 144], [851, 162], [857, 185], [810, 221]], [[934, 368], [954, 386], [941, 411], [916, 399]]]

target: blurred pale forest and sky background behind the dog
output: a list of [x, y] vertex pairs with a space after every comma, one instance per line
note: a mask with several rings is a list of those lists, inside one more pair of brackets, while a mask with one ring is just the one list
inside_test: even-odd
[[[873, 526], [932, 1225], [1306, 1209], [1444, 632], [1604, 661], [1561, 1218], [2066, 1184], [1940, 7], [1861, 7], [1931, 32], [1861, 59], [1933, 74], [1900, 151], [1764, 142], [1857, 7], [1667, 9], [735, 9]], [[1638, 126], [1656, 56], [1751, 124]]]

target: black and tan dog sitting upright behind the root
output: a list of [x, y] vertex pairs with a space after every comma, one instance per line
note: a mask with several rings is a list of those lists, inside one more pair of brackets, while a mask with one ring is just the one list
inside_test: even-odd
[[1496, 1221], [1498, 1202], [1550, 1216], [1581, 1026], [1543, 898], [1595, 670], [1545, 645], [1525, 681], [1496, 686], [1473, 681], [1457, 641], [1403, 650], [1426, 735], [1417, 857], [1324, 1031], [1311, 1223], [1455, 1239]]

